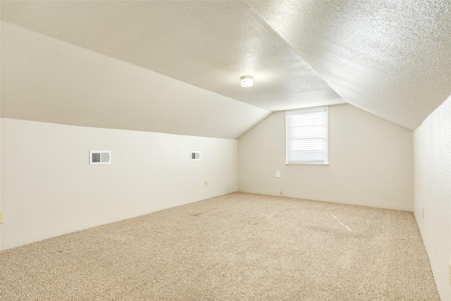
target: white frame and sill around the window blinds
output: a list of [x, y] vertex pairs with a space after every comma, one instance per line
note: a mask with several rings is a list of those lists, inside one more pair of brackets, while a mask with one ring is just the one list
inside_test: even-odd
[[[323, 161], [288, 161], [288, 116], [296, 113], [314, 113], [325, 112], [325, 145], [324, 145], [324, 160]], [[328, 106], [314, 106], [311, 108], [296, 109], [285, 111], [285, 164], [287, 165], [329, 165], [329, 152], [328, 152]]]

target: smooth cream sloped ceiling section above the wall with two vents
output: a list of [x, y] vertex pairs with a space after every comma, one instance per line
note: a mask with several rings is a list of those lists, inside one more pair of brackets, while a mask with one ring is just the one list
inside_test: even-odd
[[237, 138], [270, 113], [6, 22], [1, 39], [4, 118]]

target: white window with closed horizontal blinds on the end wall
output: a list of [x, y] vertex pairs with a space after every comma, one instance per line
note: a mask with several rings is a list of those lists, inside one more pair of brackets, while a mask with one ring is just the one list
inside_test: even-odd
[[327, 106], [286, 111], [286, 164], [328, 164]]

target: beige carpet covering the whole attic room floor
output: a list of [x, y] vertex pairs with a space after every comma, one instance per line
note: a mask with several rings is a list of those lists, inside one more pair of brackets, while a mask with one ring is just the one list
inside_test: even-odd
[[0, 300], [440, 300], [411, 212], [235, 192], [0, 252]]

